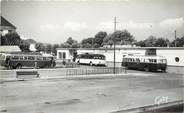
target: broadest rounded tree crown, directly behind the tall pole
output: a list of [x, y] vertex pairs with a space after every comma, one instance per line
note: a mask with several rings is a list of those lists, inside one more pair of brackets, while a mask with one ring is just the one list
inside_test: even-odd
[[135, 39], [127, 30], [119, 30], [115, 31], [113, 34], [107, 35], [103, 40], [103, 44], [109, 44], [114, 41], [119, 45], [129, 45], [133, 44]]

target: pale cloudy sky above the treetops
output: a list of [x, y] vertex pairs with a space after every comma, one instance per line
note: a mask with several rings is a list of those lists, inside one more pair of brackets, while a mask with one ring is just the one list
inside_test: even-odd
[[184, 36], [184, 0], [0, 0], [1, 15], [23, 39], [62, 43], [128, 30], [136, 40], [150, 35]]

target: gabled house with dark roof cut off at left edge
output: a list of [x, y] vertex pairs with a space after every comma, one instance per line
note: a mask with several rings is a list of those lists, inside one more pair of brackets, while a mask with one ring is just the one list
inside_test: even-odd
[[[7, 33], [16, 31], [16, 27], [13, 24], [11, 24], [9, 21], [7, 21], [4, 17], [1, 16], [0, 21], [1, 21], [0, 36], [4, 36]], [[0, 45], [1, 45], [1, 39], [0, 39]]]

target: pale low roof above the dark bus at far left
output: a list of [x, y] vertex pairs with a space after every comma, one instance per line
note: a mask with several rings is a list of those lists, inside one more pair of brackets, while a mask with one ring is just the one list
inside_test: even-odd
[[21, 52], [21, 50], [18, 46], [0, 46], [0, 52]]

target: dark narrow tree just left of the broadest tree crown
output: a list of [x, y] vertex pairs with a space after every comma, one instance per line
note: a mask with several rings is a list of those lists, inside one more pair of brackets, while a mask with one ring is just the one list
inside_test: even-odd
[[93, 47], [95, 48], [99, 48], [102, 46], [102, 43], [103, 43], [103, 40], [104, 38], [107, 36], [107, 33], [106, 32], [98, 32], [96, 35], [95, 35], [95, 38], [94, 38], [94, 43], [93, 43]]

